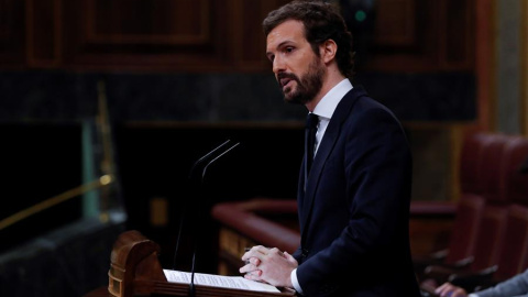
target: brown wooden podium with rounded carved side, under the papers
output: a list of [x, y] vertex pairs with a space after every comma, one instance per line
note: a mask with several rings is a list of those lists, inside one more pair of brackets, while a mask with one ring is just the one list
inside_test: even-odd
[[[113, 244], [108, 272], [108, 290], [94, 290], [92, 296], [189, 296], [189, 285], [169, 283], [158, 261], [160, 245], [140, 232], [131, 230], [121, 233]], [[295, 296], [290, 289], [280, 293], [263, 293], [237, 288], [195, 285], [196, 297], [256, 297]]]

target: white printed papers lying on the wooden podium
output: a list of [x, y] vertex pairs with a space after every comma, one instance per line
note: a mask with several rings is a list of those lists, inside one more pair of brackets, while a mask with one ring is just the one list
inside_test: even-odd
[[[165, 277], [170, 283], [190, 284], [190, 273], [163, 270]], [[224, 276], [216, 274], [195, 273], [195, 285], [210, 286], [217, 288], [234, 288], [242, 290], [280, 293], [272, 285], [245, 279], [242, 276]]]

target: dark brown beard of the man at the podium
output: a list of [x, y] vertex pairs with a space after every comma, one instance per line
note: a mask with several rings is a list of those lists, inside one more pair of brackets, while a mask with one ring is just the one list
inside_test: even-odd
[[295, 74], [280, 73], [277, 75], [277, 81], [280, 86], [282, 78], [289, 78], [295, 80], [297, 86], [282, 88], [284, 94], [284, 100], [295, 105], [306, 105], [314, 100], [317, 94], [322, 88], [322, 77], [324, 76], [326, 68], [321, 61], [315, 57], [310, 65], [308, 65], [308, 72], [300, 78]]

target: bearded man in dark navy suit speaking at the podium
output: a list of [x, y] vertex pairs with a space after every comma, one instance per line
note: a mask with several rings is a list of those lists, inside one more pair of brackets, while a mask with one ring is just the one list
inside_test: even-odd
[[285, 100], [319, 118], [316, 155], [300, 170], [299, 249], [253, 246], [240, 272], [304, 296], [420, 296], [408, 235], [410, 151], [393, 113], [352, 86], [344, 21], [329, 3], [293, 1], [263, 28]]

